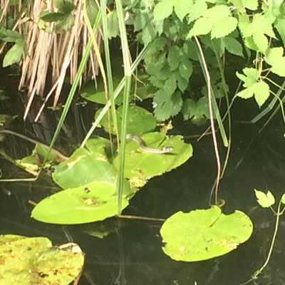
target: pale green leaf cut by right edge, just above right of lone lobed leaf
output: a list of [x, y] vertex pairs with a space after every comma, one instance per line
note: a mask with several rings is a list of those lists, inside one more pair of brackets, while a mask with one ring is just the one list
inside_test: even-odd
[[285, 76], [285, 57], [283, 53], [284, 49], [281, 46], [279, 48], [269, 48], [264, 57], [266, 63], [271, 65], [270, 71], [278, 76]]

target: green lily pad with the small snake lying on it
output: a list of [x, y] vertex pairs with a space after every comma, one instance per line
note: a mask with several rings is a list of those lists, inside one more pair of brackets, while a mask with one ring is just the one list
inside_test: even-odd
[[[130, 140], [125, 145], [125, 177], [134, 181], [148, 180], [156, 175], [162, 175], [175, 167], [182, 165], [192, 156], [192, 145], [182, 141], [181, 135], [167, 138], [164, 133], [146, 133], [141, 135], [147, 147], [173, 147], [172, 152], [157, 154], [140, 149], [138, 142]], [[118, 157], [114, 166], [118, 168]]]

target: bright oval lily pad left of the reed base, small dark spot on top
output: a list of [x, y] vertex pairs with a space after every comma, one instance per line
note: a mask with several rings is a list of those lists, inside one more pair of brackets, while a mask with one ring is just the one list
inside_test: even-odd
[[[81, 187], [58, 192], [39, 202], [31, 216], [51, 224], [83, 224], [102, 221], [118, 214], [118, 197], [115, 185], [92, 182]], [[128, 206], [123, 197], [122, 209]]]

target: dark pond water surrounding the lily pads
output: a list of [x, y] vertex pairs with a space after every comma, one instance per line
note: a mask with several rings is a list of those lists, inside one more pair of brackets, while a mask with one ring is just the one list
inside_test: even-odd
[[[269, 209], [259, 207], [254, 189], [271, 190], [277, 199], [285, 191], [284, 128], [271, 123], [261, 134], [258, 130], [257, 125], [232, 125], [232, 152], [219, 195], [227, 202], [223, 212], [239, 209], [248, 214], [254, 232], [248, 242], [222, 257], [192, 263], [173, 261], [162, 252], [160, 222], [111, 219], [115, 231], [103, 239], [87, 234], [83, 225], [37, 222], [30, 217], [33, 206], [28, 199], [39, 201], [47, 192], [54, 191], [55, 185], [48, 180], [1, 183], [0, 234], [43, 236], [53, 244], [76, 242], [86, 254], [81, 285], [242, 284], [264, 263], [274, 231], [275, 216]], [[193, 145], [193, 157], [176, 170], [150, 180], [131, 199], [123, 214], [167, 218], [180, 210], [190, 212], [208, 207], [216, 175], [212, 138], [207, 136], [199, 142], [189, 138], [187, 142]], [[222, 145], [220, 148], [224, 155]], [[2, 157], [0, 167], [9, 177], [16, 175], [12, 172], [14, 167], [10, 172], [7, 170], [9, 162]], [[6, 195], [9, 192], [11, 195]], [[285, 284], [284, 238], [281, 216], [273, 255], [257, 284]]]

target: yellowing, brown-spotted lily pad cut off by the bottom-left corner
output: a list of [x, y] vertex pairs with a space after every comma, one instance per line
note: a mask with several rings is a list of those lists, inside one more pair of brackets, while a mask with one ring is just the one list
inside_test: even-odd
[[53, 247], [46, 237], [0, 236], [1, 284], [68, 285], [81, 271], [77, 244]]

